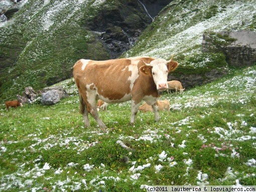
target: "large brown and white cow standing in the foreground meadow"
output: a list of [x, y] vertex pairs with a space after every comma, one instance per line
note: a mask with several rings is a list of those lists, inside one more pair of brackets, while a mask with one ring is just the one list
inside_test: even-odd
[[159, 121], [155, 104], [160, 92], [168, 88], [167, 75], [178, 66], [176, 61], [151, 57], [134, 57], [107, 61], [81, 59], [73, 66], [73, 76], [80, 98], [80, 112], [84, 124], [90, 126], [88, 112], [99, 127], [106, 127], [99, 118], [96, 100], [120, 103], [132, 100], [131, 120], [135, 122], [140, 102], [153, 106], [155, 120]]

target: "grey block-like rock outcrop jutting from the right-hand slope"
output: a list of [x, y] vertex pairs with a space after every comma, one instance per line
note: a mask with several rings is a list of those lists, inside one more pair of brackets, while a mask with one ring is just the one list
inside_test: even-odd
[[256, 32], [234, 31], [204, 34], [202, 52], [223, 52], [229, 66], [251, 66], [256, 62]]

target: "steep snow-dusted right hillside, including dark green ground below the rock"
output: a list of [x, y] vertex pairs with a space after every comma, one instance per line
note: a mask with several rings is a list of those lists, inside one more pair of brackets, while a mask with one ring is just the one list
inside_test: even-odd
[[[178, 79], [187, 88], [202, 85], [225, 75], [230, 67], [222, 52], [201, 51], [203, 34], [239, 30], [255, 32], [255, 21], [255, 0], [173, 1], [148, 26], [136, 46], [122, 57], [146, 55], [168, 59], [175, 55], [180, 66], [169, 80]], [[221, 41], [225, 42], [225, 39]]]

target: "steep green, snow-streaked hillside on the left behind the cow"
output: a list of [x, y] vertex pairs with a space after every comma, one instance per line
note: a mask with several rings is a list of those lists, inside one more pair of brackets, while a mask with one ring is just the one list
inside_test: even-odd
[[136, 0], [23, 0], [12, 9], [19, 11], [0, 23], [2, 99], [15, 99], [25, 86], [40, 89], [71, 77], [71, 67], [80, 58], [109, 59], [100, 37], [108, 28], [116, 27], [123, 35], [128, 30], [123, 26], [135, 33], [151, 22]]

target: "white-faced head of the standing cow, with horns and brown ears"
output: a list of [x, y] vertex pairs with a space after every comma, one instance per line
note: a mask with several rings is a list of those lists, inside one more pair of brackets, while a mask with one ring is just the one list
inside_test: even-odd
[[167, 75], [178, 67], [178, 62], [172, 60], [173, 57], [166, 61], [165, 59], [155, 59], [150, 63], [144, 62], [144, 66], [140, 68], [141, 72], [152, 75], [157, 90], [164, 91], [168, 88]]

